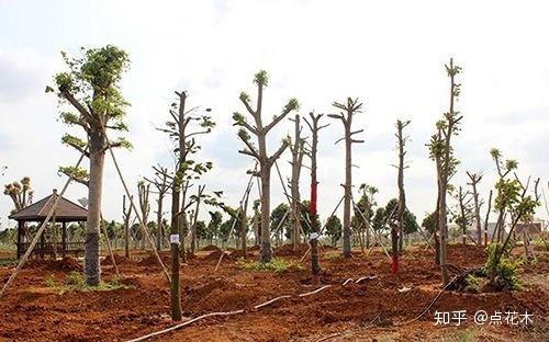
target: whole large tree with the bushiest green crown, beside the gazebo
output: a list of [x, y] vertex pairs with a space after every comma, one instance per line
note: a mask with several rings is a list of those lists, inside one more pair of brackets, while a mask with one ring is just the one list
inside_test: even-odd
[[86, 140], [65, 135], [63, 141], [90, 159], [88, 186], [88, 217], [85, 251], [85, 275], [89, 285], [100, 283], [99, 229], [103, 189], [104, 153], [110, 147], [130, 147], [124, 138], [108, 144], [108, 130], [127, 130], [124, 123], [127, 102], [120, 92], [120, 81], [128, 66], [124, 50], [113, 45], [83, 49], [80, 58], [61, 53], [68, 71], [55, 76], [55, 92], [61, 103], [68, 102], [76, 113], [61, 111], [66, 125], [79, 126]]

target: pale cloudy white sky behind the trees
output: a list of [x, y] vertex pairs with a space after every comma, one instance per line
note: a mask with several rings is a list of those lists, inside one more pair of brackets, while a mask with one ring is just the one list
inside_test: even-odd
[[[352, 178], [356, 185], [378, 187], [380, 204], [397, 195], [394, 124], [411, 119], [404, 182], [407, 206], [421, 220], [436, 204], [435, 166], [426, 144], [448, 110], [444, 66], [450, 57], [463, 69], [457, 103], [462, 130], [453, 139], [461, 164], [452, 183], [467, 186], [466, 171], [482, 172], [480, 195], [488, 197], [495, 182], [489, 151], [496, 147], [518, 161], [523, 180], [539, 176], [547, 192], [548, 12], [544, 1], [0, 0], [0, 166], [8, 167], [0, 182], [31, 176], [35, 200], [63, 187], [58, 167], [76, 163], [79, 156], [60, 137], [82, 132], [58, 121], [57, 99], [44, 89], [65, 70], [61, 50], [78, 56], [81, 46], [114, 44], [131, 59], [122, 92], [131, 103], [126, 137], [134, 148], [115, 153], [135, 194], [153, 164], [172, 167], [171, 144], [155, 127], [169, 118], [173, 92], [187, 90], [189, 105], [211, 107], [217, 124], [200, 138], [197, 159], [214, 163], [202, 181], [237, 205], [254, 161], [237, 152], [242, 142], [232, 113], [245, 113], [238, 94], [246, 91], [255, 99], [253, 78], [265, 69], [270, 75], [266, 119], [291, 98], [299, 100], [301, 115], [337, 113], [332, 103], [347, 96], [363, 102], [354, 128], [365, 129], [366, 142], [352, 148]], [[343, 126], [330, 118], [324, 123], [330, 126], [320, 133], [323, 217], [343, 195], [344, 182], [344, 146], [334, 144]], [[273, 129], [271, 152], [292, 125], [285, 119]], [[285, 152], [279, 160], [284, 178], [290, 159]], [[104, 216], [121, 220], [123, 187], [109, 158], [104, 183]], [[271, 183], [274, 206], [284, 201], [276, 172]], [[309, 184], [304, 169], [303, 198]], [[358, 186], [354, 191], [358, 196]], [[76, 201], [86, 193], [74, 184], [66, 197]], [[7, 219], [11, 208], [10, 198], [0, 196], [0, 227], [13, 224]], [[547, 217], [541, 208], [537, 216]]]

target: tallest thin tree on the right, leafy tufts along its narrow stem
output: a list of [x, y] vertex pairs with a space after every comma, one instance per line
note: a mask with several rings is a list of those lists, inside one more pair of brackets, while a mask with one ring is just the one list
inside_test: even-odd
[[447, 284], [448, 264], [447, 264], [447, 248], [448, 248], [448, 220], [447, 220], [447, 203], [448, 184], [451, 176], [456, 173], [459, 161], [453, 156], [451, 145], [452, 136], [458, 135], [460, 130], [460, 122], [462, 116], [455, 110], [455, 102], [460, 95], [461, 84], [456, 83], [456, 76], [461, 72], [461, 67], [453, 65], [453, 59], [450, 58], [450, 64], [446, 65], [446, 72], [450, 78], [450, 105], [448, 112], [444, 113], [442, 119], [437, 122], [436, 134], [432, 136], [429, 146], [430, 158], [435, 160], [437, 169], [437, 220], [438, 231], [440, 232], [440, 269], [442, 274], [442, 283]]

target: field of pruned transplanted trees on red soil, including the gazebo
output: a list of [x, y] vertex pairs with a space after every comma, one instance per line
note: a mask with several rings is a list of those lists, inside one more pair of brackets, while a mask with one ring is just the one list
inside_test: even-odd
[[[153, 164], [135, 184], [116, 159], [132, 149], [120, 88], [126, 52], [107, 45], [61, 57], [65, 69], [45, 90], [59, 101], [52, 121], [66, 126], [61, 141], [76, 162], [59, 167], [64, 184], [44, 200], [35, 198], [32, 174], [4, 186], [13, 210], [2, 215], [18, 225], [0, 231], [1, 341], [549, 338], [549, 236], [536, 219], [549, 214], [548, 180], [519, 178], [519, 160], [496, 147], [485, 152], [495, 179], [461, 167], [467, 156], [453, 146], [467, 134], [458, 107], [467, 99], [453, 59], [440, 68], [448, 103], [425, 148], [437, 195], [418, 218], [406, 205], [407, 118], [394, 125], [397, 194], [378, 203], [374, 184], [352, 179], [352, 151], [365, 142], [354, 118], [368, 115], [363, 101], [337, 99], [317, 113], [291, 99], [264, 113], [271, 76], [260, 70], [242, 84], [249, 92], [235, 94], [238, 152], [254, 168], [232, 180], [242, 193], [231, 206], [223, 190], [202, 181], [215, 167], [201, 141], [217, 128], [216, 114], [190, 101], [192, 89], [175, 90], [150, 127], [172, 145], [176, 167]], [[272, 144], [283, 121], [294, 129]], [[323, 145], [335, 142], [323, 139], [328, 125], [340, 132], [340, 193], [317, 180]], [[282, 162], [291, 174], [281, 173]], [[124, 189], [120, 223], [102, 214], [107, 163]], [[468, 182], [455, 182], [457, 173]], [[87, 200], [64, 197], [70, 186], [85, 186]], [[282, 203], [271, 202], [272, 189], [282, 189]], [[326, 198], [336, 205], [322, 217], [317, 204]]]

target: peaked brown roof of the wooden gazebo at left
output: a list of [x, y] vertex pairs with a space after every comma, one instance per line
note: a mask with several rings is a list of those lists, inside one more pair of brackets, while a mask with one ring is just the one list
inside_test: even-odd
[[[16, 221], [41, 221], [46, 218], [47, 214], [54, 205], [55, 198], [59, 197], [57, 191], [54, 189], [53, 194], [42, 198], [27, 206], [26, 208], [19, 210], [15, 214], [9, 216], [9, 218]], [[60, 196], [55, 208], [55, 220], [60, 221], [85, 221], [88, 216], [88, 210], [78, 204], [68, 201], [67, 198]]]

